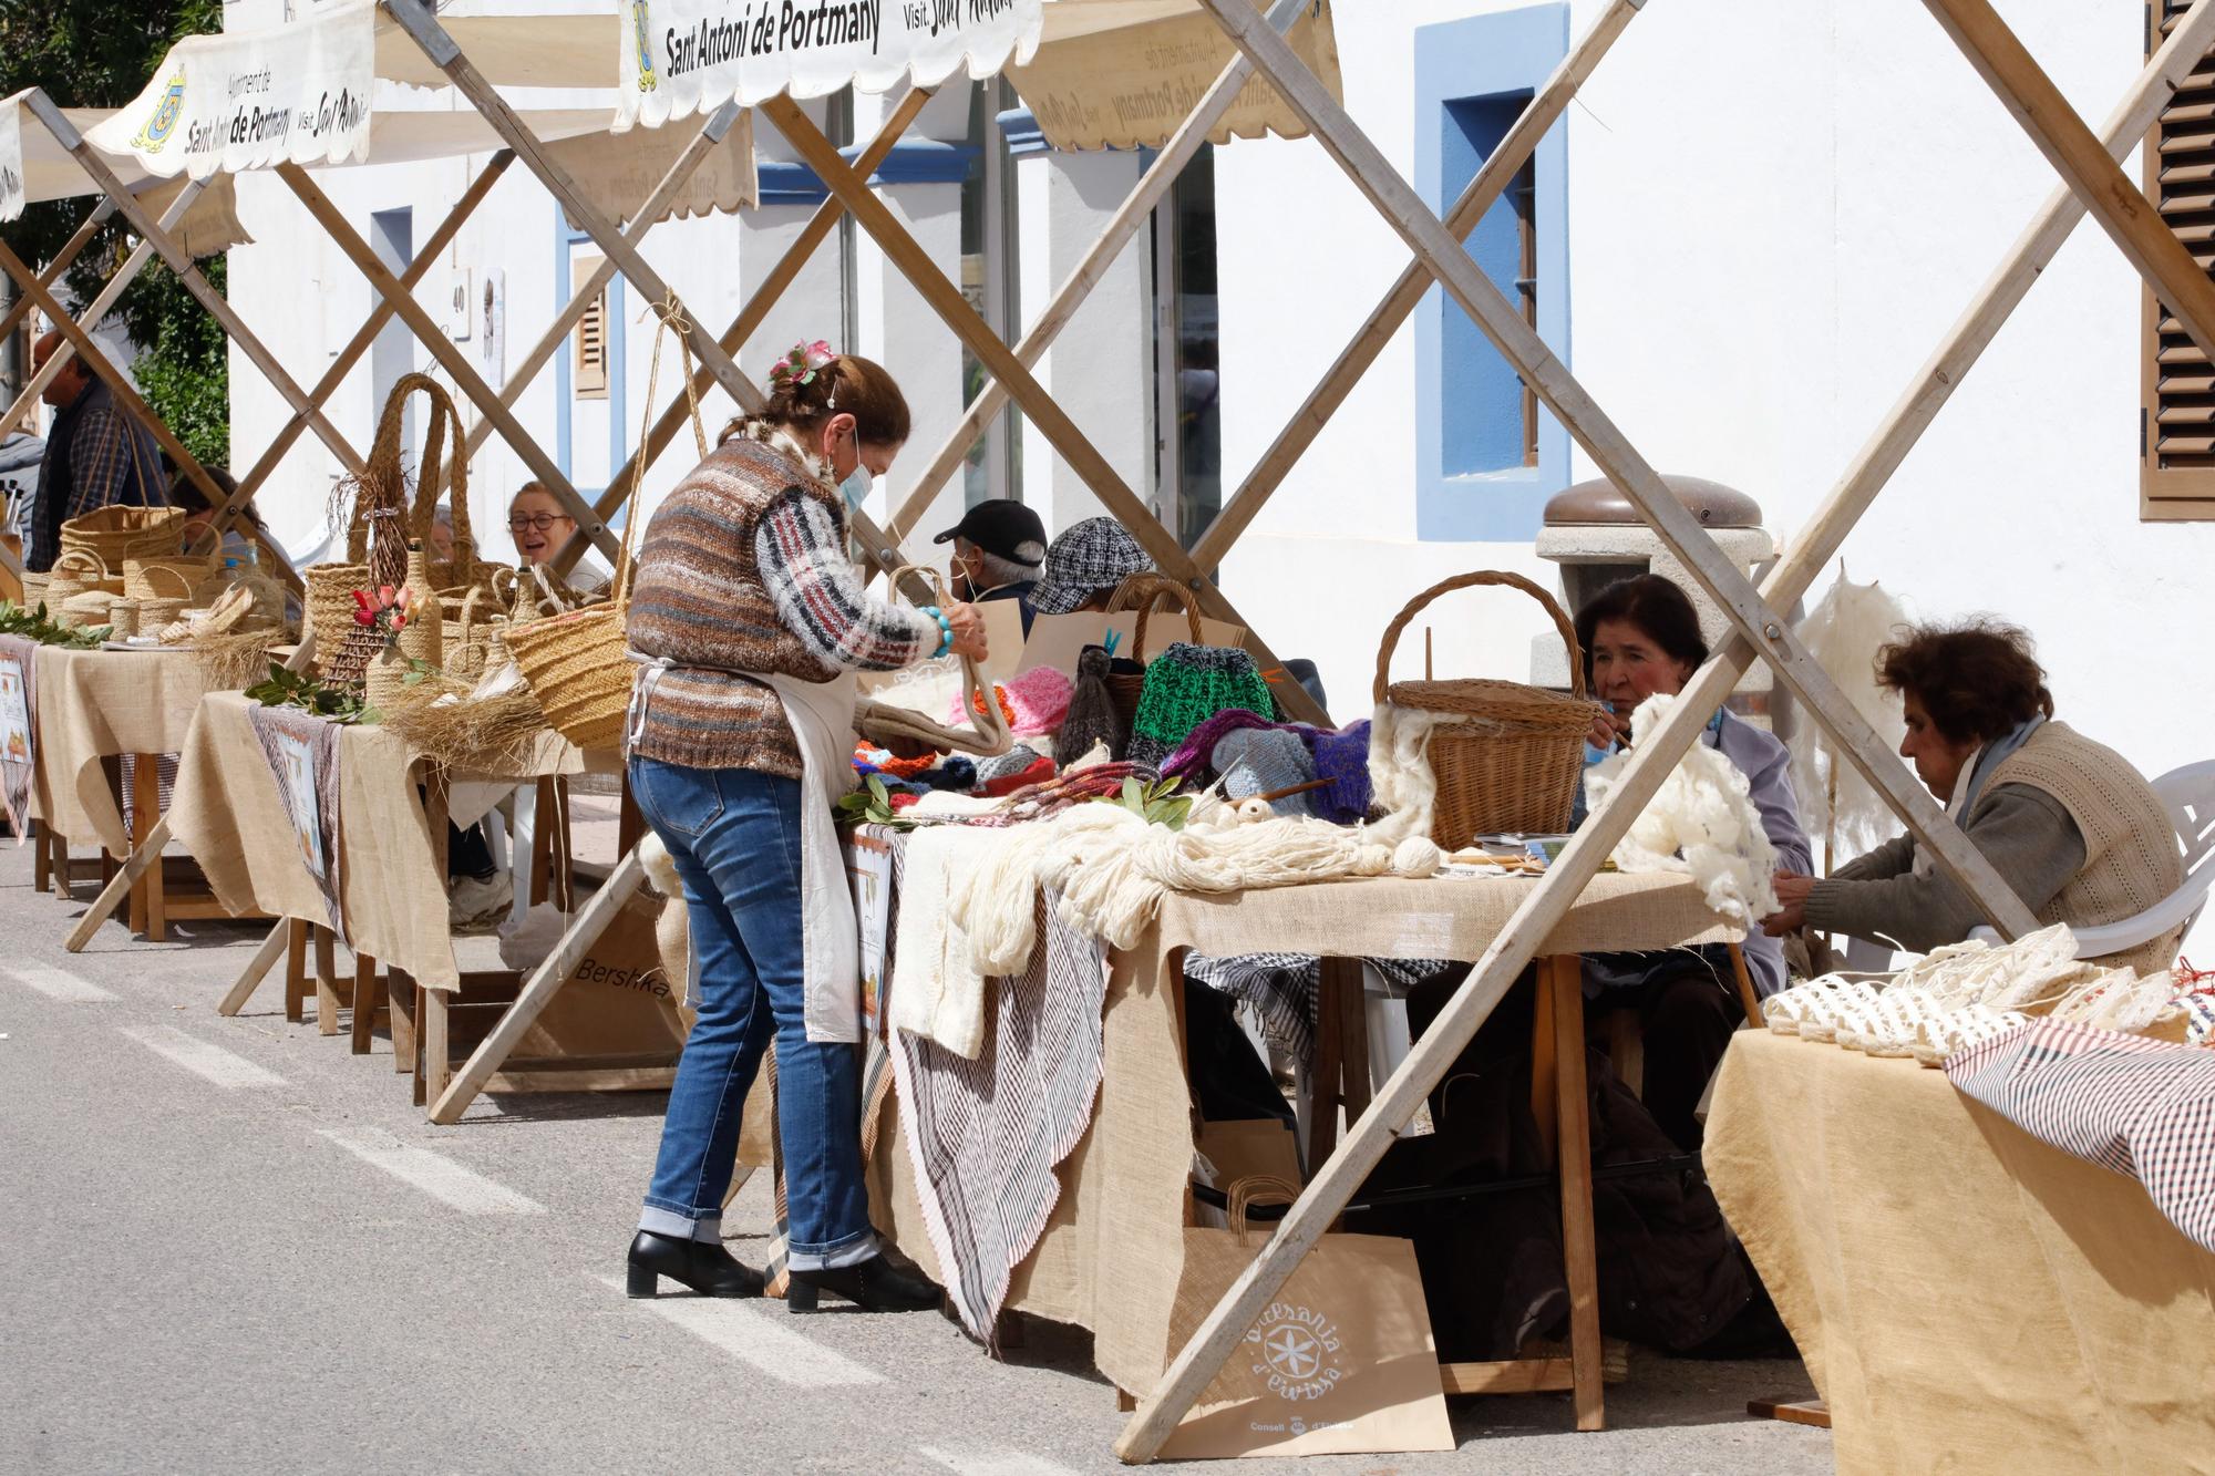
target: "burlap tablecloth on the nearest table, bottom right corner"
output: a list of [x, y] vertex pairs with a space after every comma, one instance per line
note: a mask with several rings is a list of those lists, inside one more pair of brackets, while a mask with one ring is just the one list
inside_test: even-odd
[[1841, 1472], [2215, 1465], [2215, 1254], [2137, 1181], [1945, 1073], [1765, 1031], [1723, 1057], [1706, 1164]]

